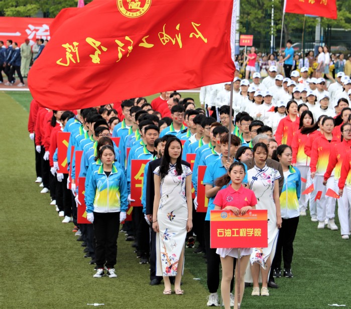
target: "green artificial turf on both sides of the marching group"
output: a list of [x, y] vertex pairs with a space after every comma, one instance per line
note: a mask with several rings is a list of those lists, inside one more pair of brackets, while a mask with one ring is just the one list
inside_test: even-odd
[[[92, 277], [93, 266], [83, 258], [81, 243], [71, 232], [73, 224], [61, 223], [49, 195], [40, 194], [34, 183], [34, 145], [23, 108], [28, 103], [23, 94], [0, 92], [0, 308], [91, 307], [87, 303], [104, 303], [101, 308], [206, 308], [205, 259], [192, 249], [185, 249], [183, 296], [163, 295], [162, 285], [149, 285], [149, 265], [139, 264], [122, 233], [119, 277]], [[342, 240], [339, 231], [316, 227], [308, 216], [300, 218], [294, 278], [276, 279], [279, 289], [270, 289], [269, 297], [251, 296], [247, 288], [242, 308], [351, 306], [351, 240]]]

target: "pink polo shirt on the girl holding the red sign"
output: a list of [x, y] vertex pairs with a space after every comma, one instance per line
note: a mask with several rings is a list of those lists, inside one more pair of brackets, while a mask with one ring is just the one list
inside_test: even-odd
[[226, 206], [235, 206], [238, 209], [242, 209], [245, 206], [253, 207], [257, 205], [257, 199], [254, 191], [243, 186], [238, 191], [235, 191], [229, 185], [229, 187], [218, 191], [213, 204], [220, 206], [222, 209]]

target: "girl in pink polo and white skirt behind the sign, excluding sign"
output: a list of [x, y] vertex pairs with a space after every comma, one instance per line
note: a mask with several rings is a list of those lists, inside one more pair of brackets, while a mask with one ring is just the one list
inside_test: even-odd
[[[228, 174], [218, 178], [215, 182], [217, 187], [226, 186], [230, 181], [231, 184], [225, 189], [218, 191], [213, 204], [214, 209], [231, 210], [235, 215], [245, 215], [248, 210], [255, 209], [257, 200], [255, 194], [250, 189], [242, 186], [245, 177], [245, 166], [243, 163], [235, 161], [229, 169]], [[243, 248], [241, 250], [241, 264], [240, 264], [240, 303], [244, 294], [244, 276], [245, 270], [248, 266], [252, 248]], [[221, 294], [223, 298], [224, 308], [230, 308], [230, 281], [233, 275], [233, 258], [238, 258], [238, 248], [218, 248], [216, 253], [220, 256], [222, 264], [222, 281]], [[235, 269], [235, 305], [238, 308], [238, 261]]]

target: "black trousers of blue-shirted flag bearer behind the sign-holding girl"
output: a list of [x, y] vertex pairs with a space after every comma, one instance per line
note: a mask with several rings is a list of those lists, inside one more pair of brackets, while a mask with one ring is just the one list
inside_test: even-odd
[[[206, 245], [206, 257], [207, 257], [207, 287], [210, 293], [216, 293], [219, 287], [219, 265], [220, 257], [216, 253], [216, 249], [210, 248], [210, 223], [205, 221], [204, 223], [204, 237]], [[235, 282], [235, 267], [237, 259], [234, 259], [233, 277], [230, 281], [230, 291], [233, 290]]]

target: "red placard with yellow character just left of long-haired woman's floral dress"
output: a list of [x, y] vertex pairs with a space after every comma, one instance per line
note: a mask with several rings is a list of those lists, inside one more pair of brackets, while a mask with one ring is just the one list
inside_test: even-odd
[[149, 161], [150, 160], [131, 161], [131, 198], [135, 200], [135, 202], [131, 203], [133, 207], [142, 206], [144, 170]]

